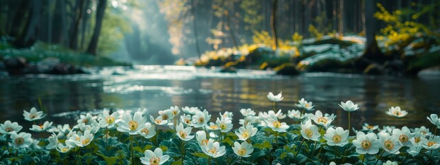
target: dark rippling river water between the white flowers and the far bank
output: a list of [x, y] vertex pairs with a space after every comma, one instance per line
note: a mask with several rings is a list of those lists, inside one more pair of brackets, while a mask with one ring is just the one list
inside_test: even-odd
[[[242, 118], [239, 109], [257, 113], [272, 109], [267, 93], [283, 91], [278, 109], [296, 109], [305, 98], [316, 109], [338, 115], [333, 122], [347, 128], [347, 113], [338, 106], [352, 100], [360, 109], [351, 113], [352, 126], [363, 122], [401, 126], [433, 126], [426, 116], [440, 111], [439, 78], [401, 78], [353, 74], [306, 73], [276, 76], [274, 72], [239, 70], [237, 74], [218, 69], [180, 66], [135, 66], [91, 69], [92, 74], [73, 76], [31, 75], [0, 78], [0, 122], [25, 123], [23, 109], [47, 109], [56, 124], [74, 123], [78, 113], [100, 113], [102, 109], [146, 108], [152, 115], [170, 106], [203, 107], [214, 122], [219, 112], [234, 113], [234, 127]], [[408, 111], [404, 118], [385, 114], [390, 107]], [[292, 120], [284, 120], [292, 123]], [[28, 126], [25, 126], [27, 128]]]

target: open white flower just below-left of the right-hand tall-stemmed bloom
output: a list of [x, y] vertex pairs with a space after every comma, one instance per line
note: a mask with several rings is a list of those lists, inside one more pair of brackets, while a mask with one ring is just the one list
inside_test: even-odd
[[342, 127], [329, 128], [323, 136], [329, 146], [344, 146], [349, 143], [347, 137], [349, 137], [349, 130], [344, 131]]

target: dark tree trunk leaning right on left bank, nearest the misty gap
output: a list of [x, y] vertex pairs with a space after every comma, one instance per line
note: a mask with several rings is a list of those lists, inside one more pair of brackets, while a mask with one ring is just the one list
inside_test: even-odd
[[104, 19], [105, 8], [107, 6], [107, 0], [99, 0], [98, 6], [96, 7], [96, 23], [94, 35], [91, 36], [91, 41], [89, 47], [87, 48], [87, 53], [96, 55], [98, 50], [98, 38], [101, 32], [102, 19]]

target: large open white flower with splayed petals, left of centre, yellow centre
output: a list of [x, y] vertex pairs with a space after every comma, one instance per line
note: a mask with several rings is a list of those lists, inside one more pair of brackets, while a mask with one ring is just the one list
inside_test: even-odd
[[145, 119], [142, 118], [142, 113], [140, 112], [135, 112], [133, 119], [130, 113], [124, 113], [122, 119], [117, 120], [117, 123], [118, 131], [137, 135], [140, 130], [144, 129]]

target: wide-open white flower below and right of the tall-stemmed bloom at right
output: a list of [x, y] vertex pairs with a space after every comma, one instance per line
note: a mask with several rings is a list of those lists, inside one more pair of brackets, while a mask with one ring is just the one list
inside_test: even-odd
[[380, 140], [377, 139], [375, 133], [363, 132], [356, 133], [356, 139], [353, 140], [353, 145], [356, 146], [356, 152], [359, 154], [376, 154], [379, 152]]

